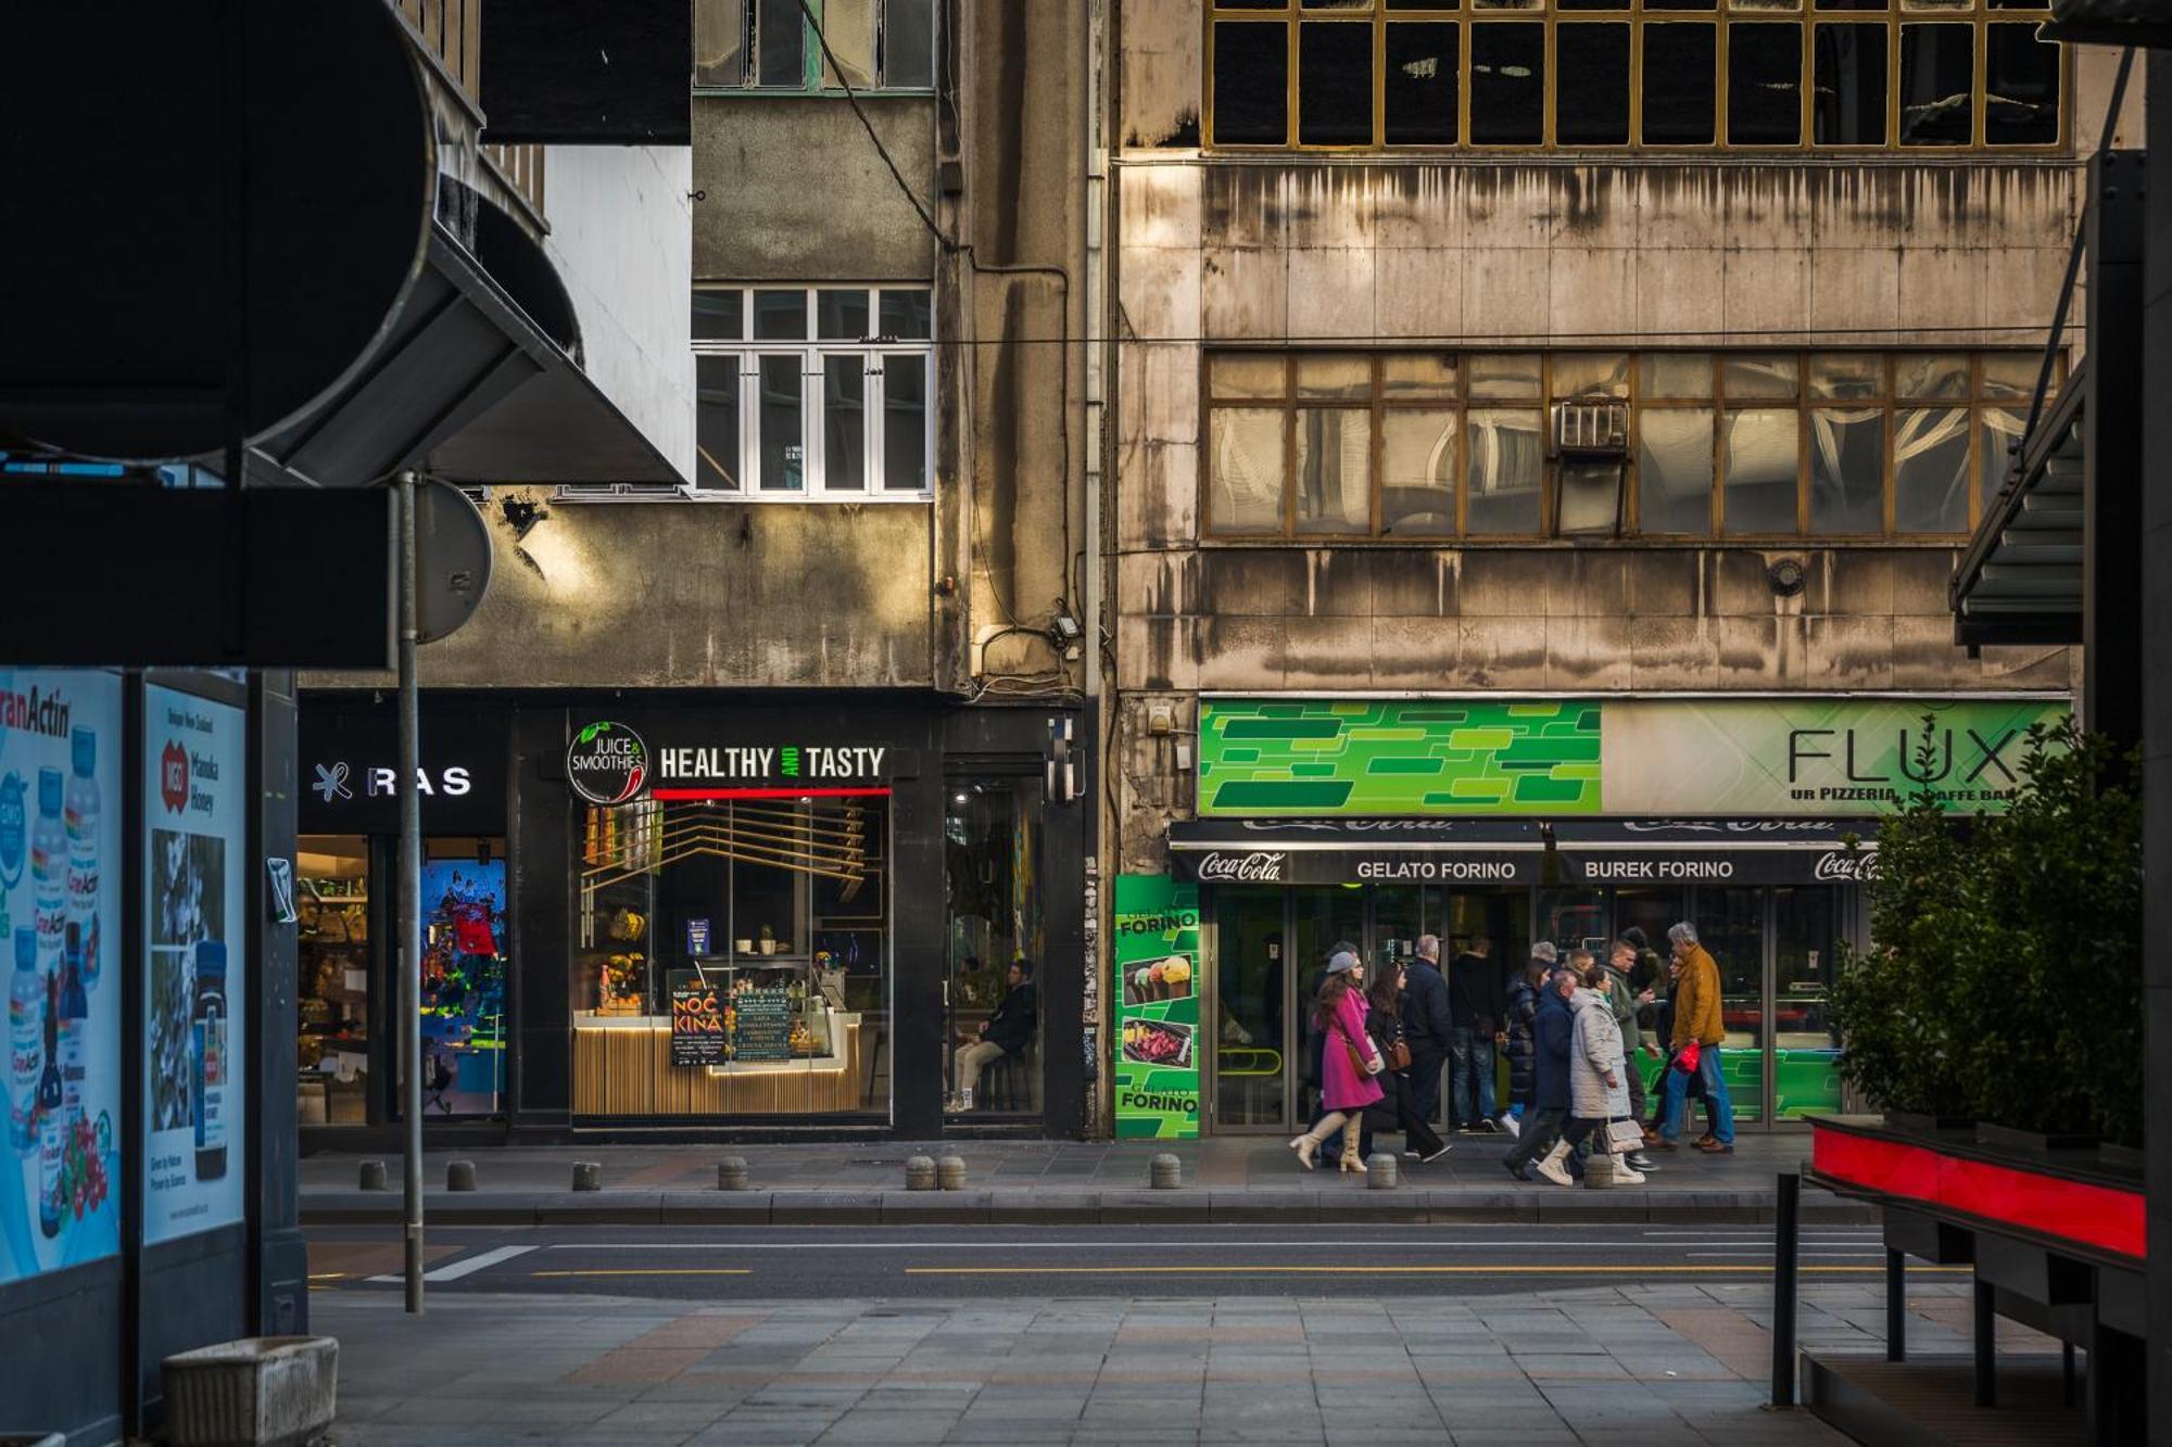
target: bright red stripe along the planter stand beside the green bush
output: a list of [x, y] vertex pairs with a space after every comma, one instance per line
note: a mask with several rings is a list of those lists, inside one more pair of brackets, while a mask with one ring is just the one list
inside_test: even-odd
[[1842, 1130], [1811, 1136], [1820, 1175], [1905, 1201], [1944, 1206], [1979, 1221], [2074, 1241], [2148, 1260], [2148, 1221], [2139, 1191], [2096, 1186], [1990, 1160], [1946, 1156], [1924, 1145], [1879, 1141]]

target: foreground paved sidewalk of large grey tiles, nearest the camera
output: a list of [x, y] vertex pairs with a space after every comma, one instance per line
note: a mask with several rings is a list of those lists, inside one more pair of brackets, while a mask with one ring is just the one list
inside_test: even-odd
[[[467, 1443], [1840, 1445], [1768, 1412], [1768, 1284], [1414, 1299], [730, 1301], [319, 1293], [341, 1447]], [[1909, 1347], [1966, 1349], [1968, 1284]], [[1872, 1284], [1807, 1284], [1801, 1343], [1879, 1354]], [[2013, 1332], [2011, 1354], [2048, 1343]]]

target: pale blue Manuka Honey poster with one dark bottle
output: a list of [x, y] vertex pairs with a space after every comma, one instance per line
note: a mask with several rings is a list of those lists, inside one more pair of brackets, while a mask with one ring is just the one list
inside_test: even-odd
[[245, 715], [143, 689], [143, 1238], [241, 1219]]

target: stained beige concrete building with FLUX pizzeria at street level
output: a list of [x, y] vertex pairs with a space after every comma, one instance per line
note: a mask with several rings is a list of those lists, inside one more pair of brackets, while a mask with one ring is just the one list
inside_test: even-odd
[[1338, 939], [1675, 919], [1738, 1117], [1838, 1102], [1844, 836], [1924, 715], [1996, 808], [2076, 684], [1946, 604], [2107, 119], [2116, 52], [2042, 20], [1119, 7], [1106, 867], [1195, 995], [1116, 982], [1119, 1136], [1301, 1125]]

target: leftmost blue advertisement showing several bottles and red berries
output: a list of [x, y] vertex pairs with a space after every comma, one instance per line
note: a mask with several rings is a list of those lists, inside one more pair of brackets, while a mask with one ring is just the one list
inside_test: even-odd
[[122, 680], [0, 669], [0, 1284], [119, 1249]]

